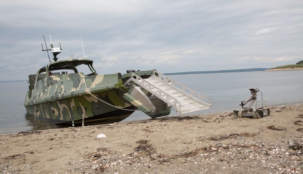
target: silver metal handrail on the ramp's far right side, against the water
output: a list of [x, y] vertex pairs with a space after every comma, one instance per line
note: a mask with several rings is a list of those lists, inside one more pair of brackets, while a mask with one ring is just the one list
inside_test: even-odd
[[[209, 104], [208, 104], [208, 103], [205, 103], [205, 102], [203, 102], [203, 101], [202, 101], [202, 102], [205, 103], [205, 104], [208, 104], [208, 105], [210, 105], [210, 106], [212, 105], [212, 98], [207, 97], [207, 96], [205, 96], [205, 95], [201, 95], [200, 93], [198, 93], [198, 92], [196, 92], [196, 91], [194, 91], [194, 90], [188, 88], [187, 86], [185, 86], [185, 85], [183, 85], [183, 84], [181, 84], [181, 83], [179, 83], [179, 82], [177, 82], [177, 81], [175, 81], [175, 80], [173, 80], [173, 79], [171, 79], [171, 78], [165, 76], [165, 75], [162, 74], [161, 72], [158, 72], [158, 71], [154, 70], [154, 74], [153, 74], [154, 76], [155, 76], [155, 73], [157, 73], [158, 76], [159, 76], [159, 78], [160, 78], [160, 79], [163, 79], [165, 82], [168, 83], [168, 82], [170, 81], [172, 86], [175, 86], [175, 84], [178, 84], [178, 85], [182, 86], [182, 91], [185, 92], [186, 94], [188, 94], [188, 93], [186, 92], [186, 90], [189, 90], [189, 91], [190, 91], [190, 94], [188, 94], [188, 95], [190, 95], [191, 97], [194, 97], [195, 94], [198, 95], [198, 96], [199, 96], [198, 99], [194, 97], [196, 100], [202, 101], [203, 98], [205, 98], [205, 99], [209, 100]], [[177, 87], [176, 87], [176, 88], [177, 88]]]

